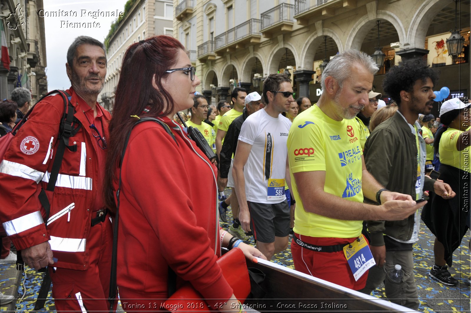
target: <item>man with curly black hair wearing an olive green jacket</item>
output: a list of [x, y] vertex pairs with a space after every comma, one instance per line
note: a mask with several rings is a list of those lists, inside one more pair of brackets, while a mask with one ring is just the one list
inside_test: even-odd
[[[398, 111], [374, 129], [363, 152], [366, 169], [379, 183], [388, 190], [410, 195], [414, 200], [428, 195], [423, 190], [447, 199], [455, 196], [448, 184], [424, 175], [425, 141], [416, 120], [419, 114], [430, 113], [437, 81], [435, 70], [419, 58], [403, 60], [392, 67], [386, 74], [383, 88], [396, 101]], [[412, 245], [418, 240], [419, 224], [417, 212], [401, 221], [367, 221], [376, 266], [370, 269], [362, 292], [370, 293], [384, 280], [386, 297], [391, 302], [418, 309]], [[404, 271], [398, 284], [387, 275], [396, 264]]]

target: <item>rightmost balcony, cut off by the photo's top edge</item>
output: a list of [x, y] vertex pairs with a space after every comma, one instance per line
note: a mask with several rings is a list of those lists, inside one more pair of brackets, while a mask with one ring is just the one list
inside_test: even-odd
[[357, 0], [294, 0], [294, 18], [299, 25], [308, 25], [313, 17], [327, 18], [338, 8], [356, 8]]

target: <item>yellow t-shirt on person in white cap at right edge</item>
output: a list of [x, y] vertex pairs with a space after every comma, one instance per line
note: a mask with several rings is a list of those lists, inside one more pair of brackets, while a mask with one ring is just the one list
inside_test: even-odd
[[466, 147], [462, 151], [456, 149], [461, 133], [462, 131], [450, 127], [442, 133], [439, 145], [440, 163], [470, 172], [470, 148]]

